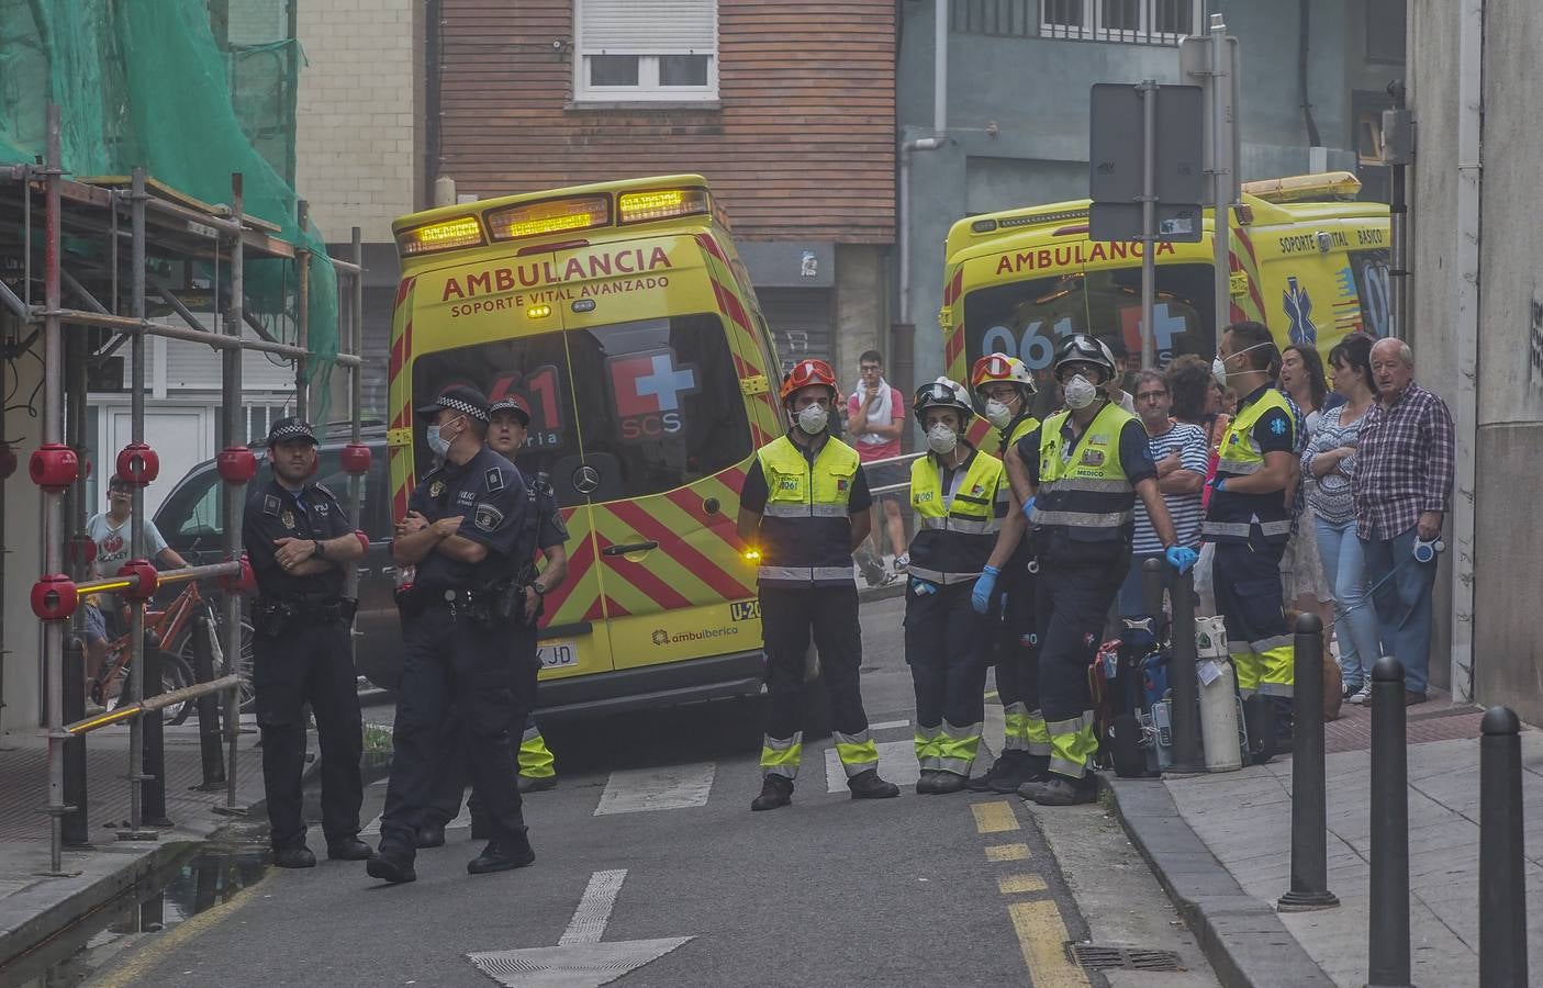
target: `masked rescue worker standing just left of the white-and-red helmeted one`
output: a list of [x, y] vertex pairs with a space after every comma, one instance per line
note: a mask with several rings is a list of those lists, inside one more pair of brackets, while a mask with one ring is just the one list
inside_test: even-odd
[[[1001, 572], [1021, 515], [1001, 461], [966, 438], [975, 418], [964, 388], [938, 378], [917, 390], [917, 421], [927, 433], [927, 455], [910, 464], [910, 509], [917, 536], [906, 567], [906, 664], [917, 692], [917, 792], [960, 792], [980, 749], [986, 718], [988, 654]], [[1014, 538], [997, 550], [1003, 523]]]

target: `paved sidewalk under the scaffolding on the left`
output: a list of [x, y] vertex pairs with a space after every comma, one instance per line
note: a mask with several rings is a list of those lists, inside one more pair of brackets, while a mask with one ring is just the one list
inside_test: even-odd
[[[242, 728], [252, 728], [242, 718]], [[49, 877], [48, 752], [42, 737], [0, 738], [0, 966], [34, 949], [69, 923], [99, 909], [160, 871], [193, 845], [231, 823], [265, 825], [262, 755], [256, 732], [241, 734], [236, 806], [245, 815], [221, 815], [225, 789], [199, 792], [196, 718], [165, 729], [167, 815], [170, 828], [154, 842], [120, 842], [128, 820], [128, 728], [94, 731], [86, 740], [89, 849], [63, 854], [69, 877]], [[315, 740], [312, 741], [315, 751]]]

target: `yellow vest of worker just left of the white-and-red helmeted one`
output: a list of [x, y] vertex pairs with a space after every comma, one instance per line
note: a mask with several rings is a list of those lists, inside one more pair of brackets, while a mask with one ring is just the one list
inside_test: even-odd
[[950, 499], [937, 456], [927, 453], [910, 464], [910, 507], [917, 515], [917, 535], [907, 550], [912, 576], [964, 583], [980, 576], [991, 558], [1001, 530], [997, 501], [1008, 496], [1008, 473], [1000, 459], [980, 450], [960, 472]]

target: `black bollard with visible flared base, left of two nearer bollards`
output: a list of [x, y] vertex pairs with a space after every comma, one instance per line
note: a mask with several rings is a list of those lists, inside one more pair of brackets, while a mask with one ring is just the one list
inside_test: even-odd
[[1329, 795], [1324, 783], [1324, 623], [1316, 613], [1296, 618], [1296, 734], [1291, 751], [1291, 888], [1282, 911], [1327, 909], [1339, 899], [1329, 891]]

